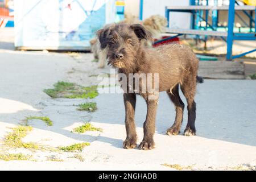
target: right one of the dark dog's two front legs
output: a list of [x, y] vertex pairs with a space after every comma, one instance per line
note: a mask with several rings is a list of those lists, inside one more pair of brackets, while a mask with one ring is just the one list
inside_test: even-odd
[[151, 150], [155, 146], [154, 134], [155, 134], [155, 116], [156, 109], [158, 107], [158, 100], [146, 100], [147, 102], [147, 117], [143, 125], [144, 137], [139, 144], [141, 150]]

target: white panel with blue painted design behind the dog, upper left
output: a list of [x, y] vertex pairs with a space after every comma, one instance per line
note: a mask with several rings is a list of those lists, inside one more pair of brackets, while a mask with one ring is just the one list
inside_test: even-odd
[[15, 47], [89, 49], [95, 32], [115, 18], [115, 0], [14, 0]]

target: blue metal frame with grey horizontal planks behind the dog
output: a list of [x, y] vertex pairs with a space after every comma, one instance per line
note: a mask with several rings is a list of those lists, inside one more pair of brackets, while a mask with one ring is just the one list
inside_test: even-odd
[[[235, 4], [237, 4], [235, 6]], [[228, 32], [220, 32], [220, 31], [216, 31], [216, 26], [214, 26], [214, 24], [216, 25], [216, 20], [217, 19], [213, 19], [213, 23], [212, 25], [210, 25], [208, 23], [208, 20], [206, 19], [205, 22], [207, 22], [208, 26], [210, 28], [212, 28], [213, 31], [208, 31], [207, 28], [205, 28], [205, 30], [196, 30], [196, 26], [195, 26], [195, 18], [196, 16], [200, 16], [200, 11], [220, 11], [220, 10], [226, 10], [228, 11]], [[251, 17], [252, 14], [247, 13], [246, 10], [250, 10], [250, 11], [254, 11], [255, 12], [255, 16], [254, 18]], [[188, 35], [196, 35], [196, 36], [205, 36], [205, 38], [207, 36], [219, 36], [221, 37], [222, 40], [225, 40], [225, 42], [227, 43], [227, 53], [226, 53], [226, 60], [232, 60], [232, 59], [236, 59], [238, 57], [244, 56], [247, 53], [251, 53], [256, 51], [256, 49], [253, 49], [251, 51], [245, 52], [245, 53], [241, 53], [240, 55], [235, 55], [232, 56], [232, 48], [233, 48], [233, 41], [234, 40], [252, 40], [255, 41], [256, 40], [256, 26], [255, 26], [255, 20], [256, 20], [256, 8], [255, 6], [238, 6], [238, 3], [236, 2], [236, 0], [230, 0], [229, 1], [229, 6], [196, 6], [195, 4], [195, 0], [191, 1], [191, 6], [187, 6], [187, 7], [166, 7], [166, 18], [168, 23], [170, 22], [170, 12], [175, 11], [175, 12], [184, 12], [184, 13], [192, 13], [192, 27], [191, 30], [179, 30], [179, 29], [172, 29], [172, 28], [168, 28], [168, 33], [174, 33], [174, 34], [178, 34], [178, 35], [184, 35], [184, 34], [188, 34]], [[236, 11], [242, 11], [243, 13], [246, 14], [246, 16], [250, 19], [250, 26], [252, 26], [253, 22], [254, 22], [254, 32], [253, 33], [236, 33], [234, 32], [234, 17], [235, 17], [235, 13]], [[208, 14], [208, 12], [206, 12]], [[203, 18], [203, 16], [201, 16], [200, 18]], [[214, 23], [215, 21], [215, 23]], [[168, 24], [169, 27], [169, 24]], [[171, 37], [172, 38], [172, 37]]]

